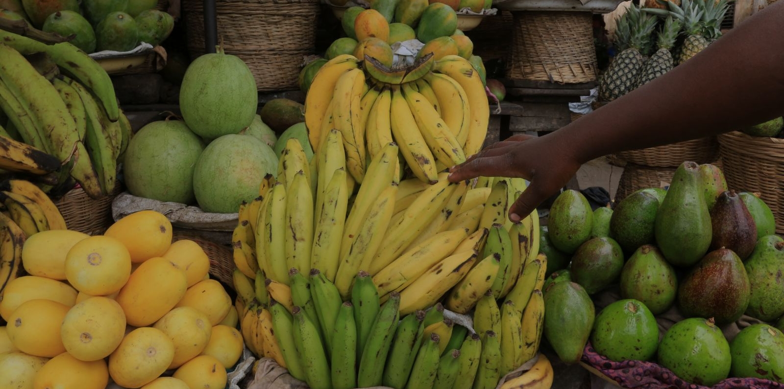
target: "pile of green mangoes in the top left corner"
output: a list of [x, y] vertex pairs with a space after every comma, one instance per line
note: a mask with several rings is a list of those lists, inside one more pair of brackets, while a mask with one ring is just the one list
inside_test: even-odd
[[0, 18], [26, 20], [31, 27], [73, 35], [71, 43], [89, 54], [103, 50], [127, 52], [141, 42], [156, 46], [169, 37], [174, 18], [158, 9], [154, 0], [24, 0], [11, 9], [0, 9]]

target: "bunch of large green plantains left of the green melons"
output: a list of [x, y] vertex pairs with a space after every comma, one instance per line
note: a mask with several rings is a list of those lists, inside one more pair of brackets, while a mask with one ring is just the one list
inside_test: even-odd
[[[13, 145], [0, 167], [59, 171], [52, 186], [71, 189], [75, 180], [93, 198], [110, 193], [131, 128], [106, 71], [68, 42], [46, 45], [8, 31], [0, 41], [0, 110], [8, 117], [0, 142]], [[53, 66], [25, 57], [34, 53]]]

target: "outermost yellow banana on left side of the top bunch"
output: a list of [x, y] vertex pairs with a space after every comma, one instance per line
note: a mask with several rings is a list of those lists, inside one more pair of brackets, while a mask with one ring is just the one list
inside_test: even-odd
[[329, 103], [338, 78], [347, 70], [357, 69], [358, 59], [348, 54], [343, 54], [330, 59], [321, 69], [318, 70], [313, 83], [310, 85], [305, 96], [305, 125], [307, 126], [307, 136], [314, 151], [320, 149], [321, 140], [321, 121], [325, 119], [328, 112]]

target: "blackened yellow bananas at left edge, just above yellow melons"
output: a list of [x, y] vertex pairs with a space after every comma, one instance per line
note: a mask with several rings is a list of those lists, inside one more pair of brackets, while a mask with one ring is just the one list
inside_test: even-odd
[[21, 276], [22, 247], [27, 236], [66, 229], [56, 205], [38, 186], [20, 179], [0, 182], [0, 301], [3, 290]]

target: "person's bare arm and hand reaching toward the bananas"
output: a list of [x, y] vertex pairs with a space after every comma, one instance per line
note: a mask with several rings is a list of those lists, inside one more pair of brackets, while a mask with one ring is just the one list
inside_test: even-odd
[[669, 73], [541, 137], [514, 135], [452, 167], [449, 181], [477, 176], [531, 182], [510, 207], [534, 211], [604, 155], [717, 135], [784, 113], [784, 2], [728, 31]]

